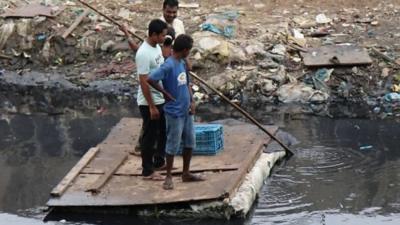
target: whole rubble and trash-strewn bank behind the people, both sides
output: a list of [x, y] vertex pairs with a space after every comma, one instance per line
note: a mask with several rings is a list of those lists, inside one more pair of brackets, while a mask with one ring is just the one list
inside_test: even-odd
[[[0, 19], [0, 72], [54, 71], [77, 86], [108, 80], [137, 86], [132, 78], [133, 54], [118, 27], [94, 12], [85, 16], [85, 8], [72, 0], [30, 2], [45, 3], [58, 14]], [[289, 11], [290, 7], [282, 6], [265, 14], [265, 4], [213, 7], [205, 2], [180, 9], [187, 32], [195, 40], [191, 61], [196, 73], [238, 104], [301, 103], [321, 114], [324, 107], [320, 105], [357, 103], [368, 105], [371, 115], [400, 115], [398, 5], [380, 3], [337, 11], [311, 6]], [[92, 3], [142, 37], [146, 21], [161, 16], [156, 1]], [[2, 1], [0, 14], [24, 5]], [[79, 25], [65, 37], [82, 15]], [[331, 66], [306, 67], [303, 54], [321, 46], [364, 49], [371, 65], [343, 66], [340, 58], [333, 57]], [[195, 99], [220, 101], [201, 85], [196, 86]]]

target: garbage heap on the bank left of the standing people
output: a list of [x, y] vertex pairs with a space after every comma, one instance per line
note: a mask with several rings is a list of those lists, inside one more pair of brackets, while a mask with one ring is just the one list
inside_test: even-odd
[[[92, 3], [105, 14], [112, 15], [113, 19], [127, 24], [131, 31], [136, 32], [133, 27], [141, 28], [129, 23], [139, 17], [141, 8], [135, 3], [130, 7], [123, 7], [122, 1]], [[137, 33], [145, 36], [143, 32]], [[118, 27], [73, 0], [32, 0], [29, 4], [1, 1], [0, 54], [0, 66], [10, 70], [59, 69], [68, 65], [74, 68], [110, 61], [121, 64], [132, 56]], [[107, 69], [98, 69], [101, 70], [100, 77], [104, 77]], [[87, 68], [87, 71], [92, 71], [92, 68]], [[70, 73], [81, 72], [73, 69]]]

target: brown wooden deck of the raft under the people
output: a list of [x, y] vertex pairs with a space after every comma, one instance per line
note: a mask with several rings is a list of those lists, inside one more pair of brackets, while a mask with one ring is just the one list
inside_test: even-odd
[[[138, 206], [216, 200], [231, 197], [253, 167], [270, 139], [251, 125], [224, 125], [224, 150], [216, 156], [193, 156], [192, 172], [204, 182], [182, 183], [182, 158], [175, 157], [174, 190], [162, 189], [161, 181], [140, 176], [141, 158], [129, 154], [140, 133], [141, 120], [122, 119], [108, 137], [88, 151], [52, 191], [47, 205]], [[276, 133], [277, 127], [268, 127]], [[85, 166], [82, 164], [87, 163]]]

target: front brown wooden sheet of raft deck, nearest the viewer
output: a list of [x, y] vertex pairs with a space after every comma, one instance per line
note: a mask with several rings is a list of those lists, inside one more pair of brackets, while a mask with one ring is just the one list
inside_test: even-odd
[[[236, 171], [205, 174], [207, 181], [182, 183], [180, 177], [173, 177], [174, 189], [165, 191], [162, 181], [147, 181], [141, 177], [113, 176], [97, 195], [81, 191], [86, 184], [100, 175], [86, 175], [77, 180], [77, 185], [68, 190], [62, 198], [53, 198], [49, 206], [134, 206], [193, 202], [224, 199], [226, 185], [236, 176]], [[210, 192], [210, 190], [214, 190]]]

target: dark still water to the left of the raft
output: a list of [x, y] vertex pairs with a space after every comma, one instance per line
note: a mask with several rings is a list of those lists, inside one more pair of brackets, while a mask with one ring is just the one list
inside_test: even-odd
[[44, 205], [49, 191], [90, 147], [118, 122], [113, 115], [91, 119], [2, 115], [0, 117], [0, 209], [15, 213]]

